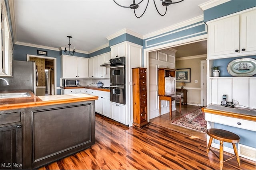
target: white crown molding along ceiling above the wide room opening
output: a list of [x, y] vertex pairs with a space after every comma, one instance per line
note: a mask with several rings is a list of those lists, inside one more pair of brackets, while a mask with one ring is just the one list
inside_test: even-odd
[[160, 29], [158, 31], [155, 31], [155, 32], [152, 32], [152, 33], [148, 33], [148, 34], [143, 36], [143, 39], [147, 39], [147, 38], [150, 38], [150, 37], [161, 35], [163, 33], [167, 33], [169, 31], [173, 31], [173, 30], [181, 28], [181, 27], [186, 27], [187, 25], [191, 25], [193, 23], [197, 23], [197, 22], [200, 22], [200, 21], [203, 21], [203, 20], [204, 20], [204, 16], [200, 15], [200, 16], [197, 16], [195, 18], [192, 18], [192, 19], [189, 19], [189, 20], [177, 23], [175, 25], [172, 25], [172, 26], [169, 26], [169, 27], [166, 27], [166, 28], [163, 28], [163, 29]]

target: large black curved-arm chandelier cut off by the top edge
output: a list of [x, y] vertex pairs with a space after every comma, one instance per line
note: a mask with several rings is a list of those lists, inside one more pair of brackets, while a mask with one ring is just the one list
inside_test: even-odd
[[[136, 16], [137, 18], [142, 17], [143, 14], [145, 13], [146, 9], [148, 8], [148, 3], [147, 3], [147, 6], [146, 6], [144, 12], [142, 13], [142, 15], [141, 15], [141, 16], [137, 16], [136, 13], [135, 13], [135, 10], [136, 10], [137, 8], [139, 8], [139, 4], [140, 4], [142, 1], [144, 1], [144, 0], [141, 0], [138, 4], [135, 3], [135, 0], [132, 0], [132, 4], [130, 4], [130, 6], [122, 6], [122, 5], [119, 5], [115, 0], [113, 0], [113, 1], [114, 1], [118, 6], [121, 6], [121, 7], [123, 7], [123, 8], [131, 8], [132, 10], [134, 10], [134, 14], [135, 14], [135, 16]], [[158, 9], [157, 9], [157, 7], [156, 7], [156, 2], [155, 2], [155, 0], [154, 0], [154, 4], [155, 4], [156, 11], [158, 12], [158, 14], [159, 14], [160, 16], [164, 16], [164, 15], [166, 14], [166, 12], [167, 12], [167, 7], [168, 7], [170, 4], [177, 4], [177, 3], [182, 2], [182, 1], [184, 1], [184, 0], [180, 0], [180, 1], [178, 1], [178, 2], [172, 2], [172, 0], [160, 0], [160, 1], [162, 1], [162, 6], [166, 6], [166, 10], [165, 10], [164, 14], [160, 14], [160, 12], [158, 11]], [[149, 2], [149, 0], [148, 0], [148, 2]]]

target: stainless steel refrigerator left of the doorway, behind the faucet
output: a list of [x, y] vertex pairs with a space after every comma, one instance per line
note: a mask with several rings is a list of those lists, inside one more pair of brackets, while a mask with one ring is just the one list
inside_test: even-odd
[[29, 89], [36, 94], [37, 71], [32, 61], [12, 61], [12, 77], [4, 77], [9, 82], [0, 81], [0, 90]]

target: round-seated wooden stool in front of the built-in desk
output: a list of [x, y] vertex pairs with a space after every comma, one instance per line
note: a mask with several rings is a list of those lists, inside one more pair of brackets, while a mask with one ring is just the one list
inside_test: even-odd
[[[238, 152], [237, 152], [237, 149], [236, 149], [236, 143], [239, 142], [240, 140], [240, 137], [232, 132], [229, 132], [229, 131], [225, 131], [225, 130], [222, 130], [222, 129], [207, 129], [206, 131], [207, 135], [210, 136], [210, 140], [209, 140], [209, 143], [208, 143], [208, 146], [207, 146], [207, 152], [206, 154], [209, 153], [209, 151], [211, 150], [211, 145], [212, 145], [212, 139], [217, 139], [220, 141], [220, 157], [214, 153], [212, 150], [212, 152], [220, 159], [220, 169], [222, 170], [222, 167], [223, 167], [223, 162], [226, 162], [227, 160], [230, 160], [234, 157], [236, 157], [236, 160], [238, 162], [238, 165], [240, 165], [240, 159], [239, 159], [239, 156], [238, 156]], [[235, 155], [224, 160], [223, 161], [223, 142], [228, 142], [228, 143], [232, 143], [233, 145], [233, 149], [234, 149], [234, 152], [235, 152]]]

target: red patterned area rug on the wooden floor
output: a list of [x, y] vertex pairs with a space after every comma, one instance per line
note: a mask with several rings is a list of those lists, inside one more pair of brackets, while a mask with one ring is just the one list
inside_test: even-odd
[[204, 120], [204, 113], [202, 112], [202, 108], [196, 109], [195, 111], [184, 115], [172, 123], [206, 133], [207, 125], [206, 121]]

